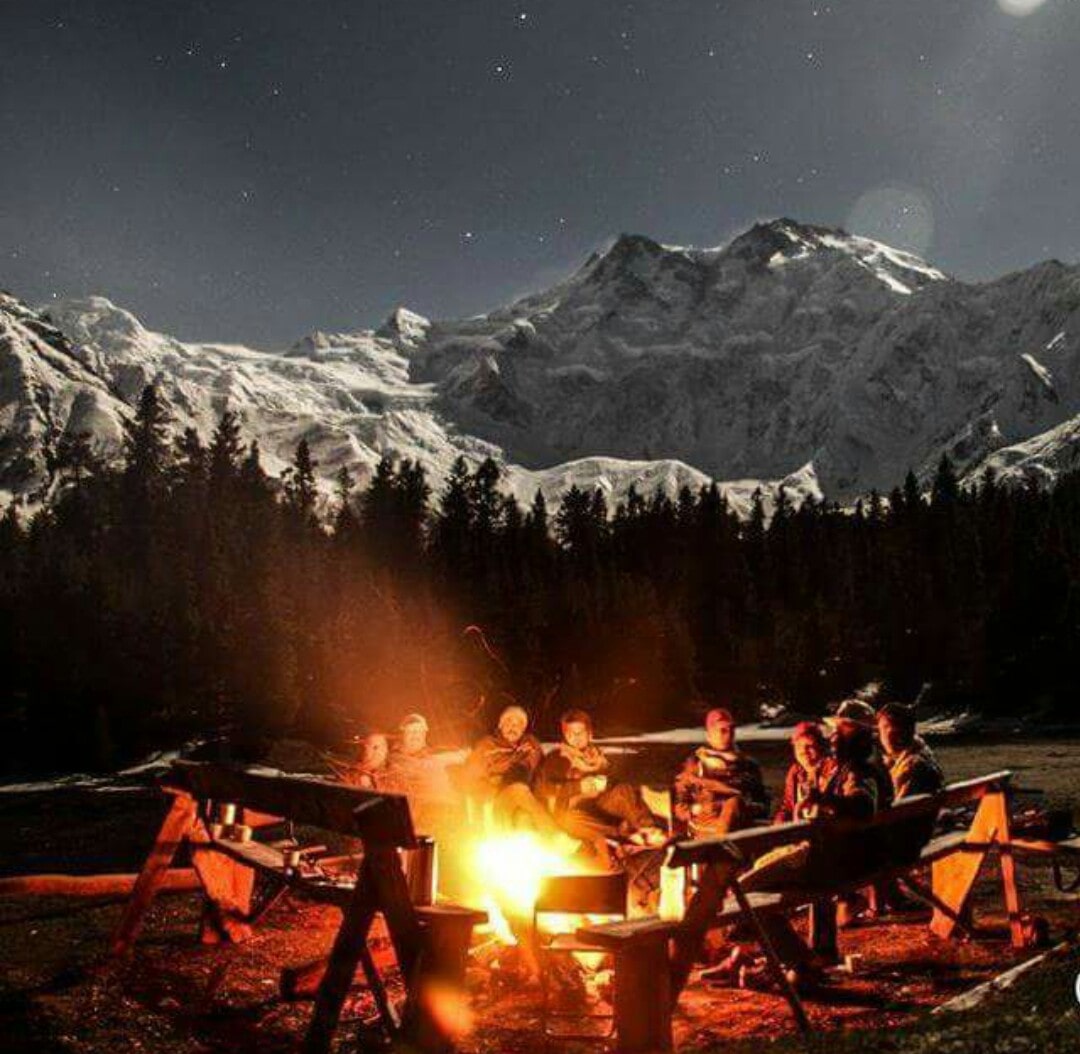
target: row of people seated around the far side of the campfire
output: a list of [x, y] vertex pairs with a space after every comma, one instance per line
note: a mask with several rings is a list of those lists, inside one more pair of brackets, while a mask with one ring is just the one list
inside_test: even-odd
[[[705, 717], [704, 743], [674, 778], [669, 821], [653, 813], [638, 785], [620, 778], [611, 756], [594, 741], [585, 711], [567, 711], [559, 730], [559, 743], [545, 754], [525, 710], [508, 706], [450, 781], [431, 765], [428, 721], [409, 714], [393, 749], [382, 733], [363, 741], [349, 779], [407, 794], [421, 811], [426, 801], [445, 802], [457, 789], [486, 805], [496, 823], [528, 826], [557, 839], [568, 854], [581, 852], [605, 867], [618, 864], [612, 847], [619, 844], [659, 848], [671, 837], [719, 836], [770, 819], [868, 819], [896, 799], [944, 784], [909, 708], [890, 703], [875, 712], [852, 699], [823, 724], [795, 727], [793, 761], [770, 814], [760, 766], [737, 745], [730, 711], [717, 707]], [[445, 784], [433, 785], [437, 776]]]

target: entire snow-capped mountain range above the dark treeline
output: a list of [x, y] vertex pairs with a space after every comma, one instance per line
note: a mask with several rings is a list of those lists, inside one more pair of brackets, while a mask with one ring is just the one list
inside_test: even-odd
[[204, 434], [239, 411], [271, 472], [301, 436], [327, 479], [389, 451], [437, 486], [459, 454], [490, 454], [523, 501], [712, 477], [742, 481], [725, 485], [737, 508], [760, 481], [848, 500], [944, 451], [1048, 479], [1080, 460], [1080, 269], [962, 283], [786, 219], [713, 249], [623, 235], [487, 315], [399, 308], [281, 352], [185, 343], [99, 297], [39, 312], [4, 296], [0, 489], [39, 492], [65, 431], [116, 449], [150, 381]]

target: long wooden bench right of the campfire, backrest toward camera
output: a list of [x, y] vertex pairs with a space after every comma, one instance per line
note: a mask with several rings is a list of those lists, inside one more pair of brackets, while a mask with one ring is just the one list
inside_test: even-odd
[[[579, 935], [610, 948], [616, 956], [616, 1032], [622, 1054], [648, 1050], [670, 1050], [671, 1011], [700, 958], [710, 930], [743, 920], [756, 933], [780, 990], [787, 999], [796, 1022], [808, 1028], [806, 1012], [787, 979], [761, 924], [761, 916], [785, 916], [809, 907], [810, 946], [825, 957], [836, 957], [835, 898], [864, 886], [899, 878], [933, 908], [931, 930], [942, 937], [967, 929], [966, 921], [975, 879], [987, 854], [996, 850], [1000, 859], [1004, 903], [1012, 943], [1024, 945], [1015, 860], [1009, 827], [1009, 783], [1011, 773], [994, 772], [975, 780], [954, 783], [934, 795], [919, 795], [897, 802], [865, 822], [818, 821], [748, 828], [725, 837], [677, 842], [669, 867], [697, 865], [700, 879], [678, 922], [639, 919], [629, 922], [582, 927]], [[918, 827], [930, 827], [944, 810], [976, 803], [967, 830], [950, 832], [919, 846], [912, 840]], [[903, 846], [901, 855], [890, 851], [891, 836]], [[748, 892], [740, 884], [748, 865], [766, 852], [807, 842], [811, 854], [833, 847], [858, 846], [873, 839], [881, 859], [842, 879], [819, 879], [815, 884], [784, 888], [779, 892]], [[929, 888], [913, 871], [929, 865]], [[620, 969], [625, 976], [620, 977]], [[644, 999], [646, 991], [662, 1000]], [[623, 998], [620, 999], [620, 987]], [[622, 1013], [620, 1013], [620, 1008]]]

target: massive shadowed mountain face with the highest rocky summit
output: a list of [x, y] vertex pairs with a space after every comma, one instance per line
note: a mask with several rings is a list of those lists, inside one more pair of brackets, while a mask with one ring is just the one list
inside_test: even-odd
[[[1080, 411], [1078, 310], [1075, 268], [971, 285], [778, 220], [713, 249], [624, 235], [549, 290], [432, 323], [413, 364], [449, 417], [530, 468], [675, 458], [767, 479], [812, 461], [850, 500]], [[1053, 393], [1021, 357], [1037, 349]]]

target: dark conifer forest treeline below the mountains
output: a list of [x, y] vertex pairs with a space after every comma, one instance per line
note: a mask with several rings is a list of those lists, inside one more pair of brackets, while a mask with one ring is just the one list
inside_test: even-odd
[[[123, 464], [84, 437], [50, 455], [53, 497], [0, 523], [0, 759], [110, 765], [187, 735], [330, 740], [424, 710], [464, 734], [513, 699], [541, 727], [571, 703], [608, 728], [723, 700], [804, 711], [869, 679], [942, 704], [1056, 710], [1080, 653], [1080, 474], [1051, 490], [943, 461], [853, 512], [782, 494], [771, 522], [713, 487], [571, 488], [523, 510], [499, 469], [384, 460], [342, 471], [316, 517], [311, 452], [273, 481], [232, 413], [173, 434], [152, 388]], [[450, 726], [456, 726], [451, 728]]]

